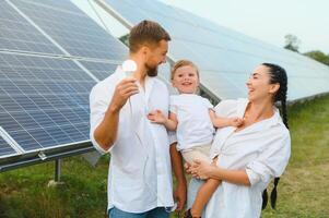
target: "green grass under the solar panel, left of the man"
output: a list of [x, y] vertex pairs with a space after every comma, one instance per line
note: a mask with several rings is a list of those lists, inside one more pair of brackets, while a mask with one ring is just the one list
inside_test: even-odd
[[64, 184], [47, 187], [54, 179], [54, 162], [0, 174], [1, 218], [105, 217], [108, 158], [96, 168], [82, 157], [64, 159]]

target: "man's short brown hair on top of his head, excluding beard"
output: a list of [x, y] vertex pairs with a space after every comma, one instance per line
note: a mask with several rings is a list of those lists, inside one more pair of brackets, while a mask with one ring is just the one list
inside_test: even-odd
[[169, 34], [156, 22], [142, 21], [129, 34], [129, 50], [137, 52], [142, 46], [157, 46], [161, 40], [171, 40]]

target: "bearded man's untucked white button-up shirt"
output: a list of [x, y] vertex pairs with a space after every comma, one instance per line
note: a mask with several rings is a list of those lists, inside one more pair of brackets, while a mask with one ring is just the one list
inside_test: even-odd
[[[104, 119], [116, 85], [126, 77], [121, 66], [96, 84], [90, 95], [91, 141], [101, 153], [93, 133]], [[119, 114], [118, 137], [110, 152], [108, 209], [143, 213], [155, 207], [171, 207], [173, 201], [169, 141], [163, 125], [151, 123], [146, 113], [168, 111], [168, 90], [155, 77], [145, 78], [145, 90], [130, 97]], [[131, 113], [132, 112], [132, 113]]]

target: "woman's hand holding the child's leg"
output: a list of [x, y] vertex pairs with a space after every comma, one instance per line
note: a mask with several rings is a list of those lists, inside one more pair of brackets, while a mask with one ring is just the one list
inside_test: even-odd
[[207, 180], [215, 171], [216, 166], [202, 160], [193, 160], [192, 164], [185, 165], [186, 171], [192, 174], [193, 178]]

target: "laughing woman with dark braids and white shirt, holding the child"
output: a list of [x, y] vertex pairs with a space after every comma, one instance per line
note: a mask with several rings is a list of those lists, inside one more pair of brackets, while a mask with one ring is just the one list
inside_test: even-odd
[[[218, 130], [211, 149], [215, 161], [195, 161], [187, 167], [197, 179], [222, 181], [207, 205], [207, 218], [260, 217], [262, 192], [271, 179], [283, 173], [290, 158], [284, 69], [262, 63], [252, 72], [247, 87], [248, 99], [223, 100], [215, 108], [218, 116], [244, 119], [238, 128]], [[281, 101], [283, 122], [275, 101]], [[197, 186], [190, 186], [189, 202]]]

